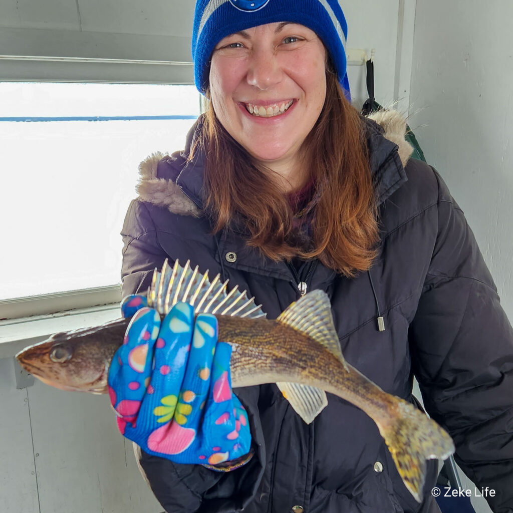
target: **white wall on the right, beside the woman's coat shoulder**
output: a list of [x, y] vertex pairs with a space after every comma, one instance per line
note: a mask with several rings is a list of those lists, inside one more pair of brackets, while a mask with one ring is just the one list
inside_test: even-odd
[[417, 0], [410, 126], [476, 235], [513, 320], [513, 3]]

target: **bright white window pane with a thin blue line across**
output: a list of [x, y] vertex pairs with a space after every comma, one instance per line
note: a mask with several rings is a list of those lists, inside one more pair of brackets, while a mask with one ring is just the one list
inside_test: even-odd
[[199, 114], [191, 85], [0, 83], [0, 300], [119, 284], [137, 167]]

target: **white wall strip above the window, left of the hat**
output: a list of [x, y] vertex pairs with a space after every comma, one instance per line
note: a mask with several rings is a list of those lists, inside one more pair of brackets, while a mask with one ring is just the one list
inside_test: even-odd
[[[0, 54], [190, 62], [191, 0], [2, 0]], [[192, 67], [0, 61], [0, 80], [193, 83]]]

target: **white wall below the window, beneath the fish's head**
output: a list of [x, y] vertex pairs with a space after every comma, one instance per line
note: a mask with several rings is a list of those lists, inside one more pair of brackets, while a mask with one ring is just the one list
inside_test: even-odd
[[36, 381], [17, 390], [0, 359], [2, 513], [159, 513], [107, 396]]

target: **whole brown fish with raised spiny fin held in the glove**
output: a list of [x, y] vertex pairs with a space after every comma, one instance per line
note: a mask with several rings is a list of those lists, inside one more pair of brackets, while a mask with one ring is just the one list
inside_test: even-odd
[[[276, 383], [284, 398], [306, 423], [327, 405], [326, 392], [362, 409], [378, 426], [399, 475], [420, 503], [426, 460], [448, 458], [455, 446], [448, 433], [409, 402], [383, 391], [345, 361], [333, 324], [331, 303], [322, 290], [312, 290], [289, 305], [275, 320], [267, 319], [254, 298], [218, 274], [193, 270], [187, 261], [166, 260], [153, 272], [146, 298], [163, 318], [177, 302], [194, 313], [212, 313], [218, 339], [232, 347], [233, 388]], [[107, 393], [108, 370], [123, 344], [130, 319], [53, 334], [29, 346], [17, 361], [42, 382], [64, 390]]]

